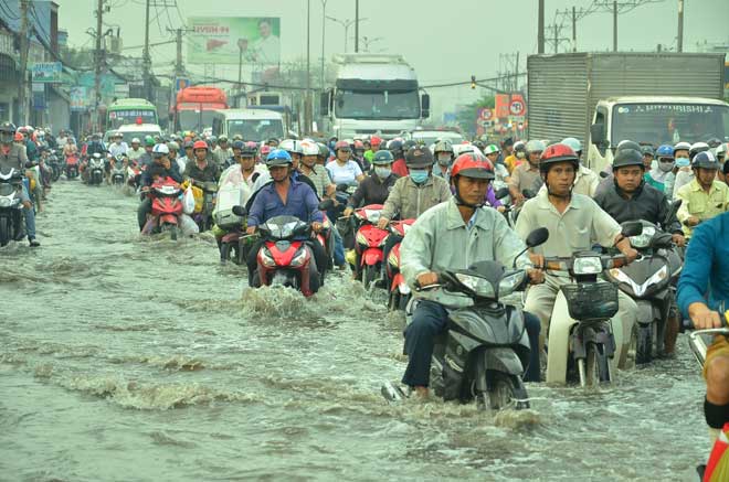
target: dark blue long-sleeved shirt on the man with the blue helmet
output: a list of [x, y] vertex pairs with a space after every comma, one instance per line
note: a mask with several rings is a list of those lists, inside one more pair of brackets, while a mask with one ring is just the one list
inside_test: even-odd
[[314, 190], [294, 180], [288, 185], [286, 204], [281, 201], [275, 183], [261, 188], [249, 211], [247, 225], [258, 226], [275, 216], [295, 216], [305, 223], [324, 221]]

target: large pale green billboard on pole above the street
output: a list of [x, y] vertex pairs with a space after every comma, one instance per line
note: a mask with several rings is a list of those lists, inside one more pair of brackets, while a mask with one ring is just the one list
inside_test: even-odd
[[188, 19], [190, 64], [237, 65], [281, 62], [281, 19], [191, 17]]

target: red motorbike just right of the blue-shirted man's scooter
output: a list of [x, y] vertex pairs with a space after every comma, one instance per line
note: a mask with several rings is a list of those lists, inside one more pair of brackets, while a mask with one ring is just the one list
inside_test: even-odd
[[355, 211], [355, 219], [359, 225], [355, 235], [355, 250], [357, 251], [357, 274], [366, 288], [382, 275], [384, 259], [384, 243], [390, 232], [377, 227], [382, 213], [382, 204], [368, 204]]

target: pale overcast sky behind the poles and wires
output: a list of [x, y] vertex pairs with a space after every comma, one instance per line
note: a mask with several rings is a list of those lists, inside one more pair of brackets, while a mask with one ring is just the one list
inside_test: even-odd
[[[60, 4], [59, 26], [68, 31], [73, 46], [93, 46], [85, 33], [96, 25], [96, 0], [55, 0]], [[154, 2], [155, 0], [152, 0]], [[156, 0], [172, 4], [172, 0]], [[122, 26], [125, 46], [144, 43], [144, 0], [106, 0], [112, 11], [105, 23]], [[499, 71], [499, 54], [520, 53], [521, 69], [527, 54], [537, 52], [537, 0], [360, 0], [360, 38], [381, 40], [371, 51], [400, 53], [415, 68], [421, 85], [493, 77]], [[556, 10], [588, 8], [592, 0], [547, 0], [546, 24], [554, 23]], [[612, 4], [612, 2], [610, 2]], [[279, 17], [282, 61], [306, 56], [306, 0], [177, 0], [179, 8], [158, 8], [159, 22], [150, 25], [150, 42], [170, 39], [167, 26], [183, 26], [188, 17]], [[318, 65], [321, 52], [321, 0], [311, 4], [311, 62]], [[729, 0], [685, 0], [684, 51], [696, 51], [697, 42], [729, 45]], [[675, 47], [678, 0], [641, 6], [619, 18], [619, 49], [655, 51], [657, 44]], [[155, 8], [151, 18], [156, 17]], [[353, 19], [355, 0], [328, 0], [328, 15]], [[560, 21], [558, 21], [560, 23]], [[572, 35], [566, 23], [562, 36]], [[349, 50], [353, 51], [353, 26], [349, 30]], [[553, 31], [552, 31], [553, 32]], [[548, 33], [552, 35], [552, 33]], [[344, 52], [344, 28], [326, 22], [326, 55]], [[612, 49], [612, 15], [599, 11], [578, 22], [579, 50]], [[360, 42], [361, 49], [361, 42]], [[562, 50], [568, 44], [562, 44]], [[550, 46], [547, 46], [551, 52]], [[141, 50], [125, 51], [140, 55]], [[158, 72], [170, 72], [175, 44], [152, 50]], [[187, 65], [203, 72], [202, 65]], [[313, 67], [314, 72], [318, 72]], [[218, 77], [237, 78], [236, 67], [219, 67]], [[318, 78], [315, 76], [315, 79]], [[316, 82], [316, 81], [315, 81]], [[468, 103], [480, 95], [468, 86], [430, 92], [437, 111], [452, 110], [455, 104]]]

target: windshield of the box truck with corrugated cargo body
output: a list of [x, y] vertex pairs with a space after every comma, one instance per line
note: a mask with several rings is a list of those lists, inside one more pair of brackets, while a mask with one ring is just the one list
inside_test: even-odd
[[654, 146], [729, 141], [729, 107], [710, 104], [619, 104], [611, 143], [630, 139]]

